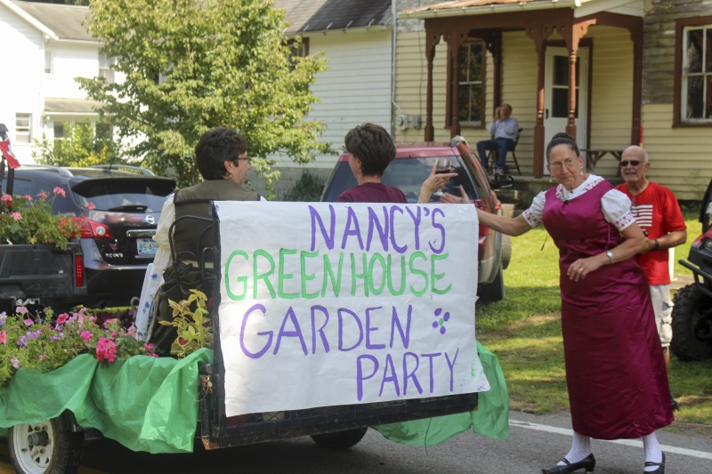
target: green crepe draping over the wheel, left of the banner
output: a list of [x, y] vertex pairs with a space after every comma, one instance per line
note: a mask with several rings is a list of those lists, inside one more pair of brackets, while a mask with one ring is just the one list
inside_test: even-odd
[[108, 367], [88, 354], [49, 374], [20, 369], [0, 390], [0, 428], [74, 413], [134, 451], [190, 453], [198, 424], [198, 363], [213, 352], [187, 358], [135, 356]]

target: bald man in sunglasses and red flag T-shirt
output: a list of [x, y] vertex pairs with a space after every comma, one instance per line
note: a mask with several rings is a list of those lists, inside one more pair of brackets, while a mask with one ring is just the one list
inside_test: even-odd
[[[665, 354], [666, 367], [670, 364], [670, 341], [673, 330], [673, 303], [670, 300], [670, 271], [667, 249], [684, 244], [687, 240], [687, 227], [677, 198], [670, 189], [652, 181], [646, 174], [651, 169], [648, 153], [631, 146], [620, 157], [620, 171], [626, 181], [616, 189], [625, 193], [631, 201], [631, 211], [635, 221], [648, 237], [645, 252], [636, 259], [648, 277], [651, 286], [652, 306], [655, 309], [655, 321], [658, 325], [660, 342]], [[674, 403], [673, 406], [676, 406]]]

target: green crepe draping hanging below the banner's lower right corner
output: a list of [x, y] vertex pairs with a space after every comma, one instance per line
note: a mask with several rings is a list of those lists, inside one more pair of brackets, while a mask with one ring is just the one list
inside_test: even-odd
[[477, 341], [477, 353], [490, 382], [490, 390], [479, 394], [477, 410], [413, 422], [383, 424], [373, 429], [392, 441], [416, 446], [439, 445], [470, 429], [490, 438], [509, 438], [509, 395], [502, 367], [499, 366], [497, 356], [481, 345], [480, 341]]

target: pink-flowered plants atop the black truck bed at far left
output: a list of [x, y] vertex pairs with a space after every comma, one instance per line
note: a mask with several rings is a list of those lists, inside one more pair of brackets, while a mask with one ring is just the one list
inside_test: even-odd
[[0, 243], [15, 245], [47, 244], [62, 250], [69, 245], [81, 228], [79, 221], [69, 216], [52, 213], [54, 199], [66, 199], [64, 189], [55, 188], [53, 197], [40, 193], [30, 196], [0, 197], [4, 204], [0, 213]]

